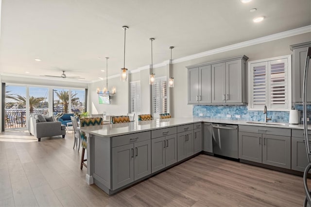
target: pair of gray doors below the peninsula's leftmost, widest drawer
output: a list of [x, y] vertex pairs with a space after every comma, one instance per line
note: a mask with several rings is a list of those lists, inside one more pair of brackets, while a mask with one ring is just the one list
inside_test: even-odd
[[112, 148], [112, 190], [151, 173], [151, 141]]

